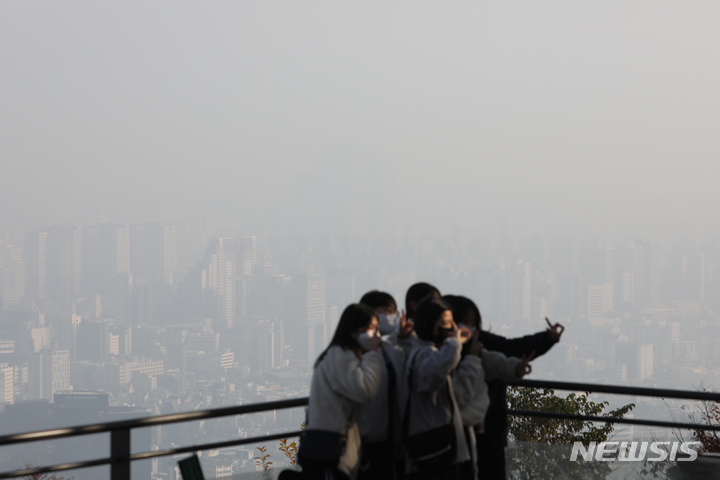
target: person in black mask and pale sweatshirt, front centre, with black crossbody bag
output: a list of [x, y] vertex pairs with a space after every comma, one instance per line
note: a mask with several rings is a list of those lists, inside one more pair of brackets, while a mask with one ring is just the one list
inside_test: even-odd
[[[406, 477], [459, 480], [468, 471], [470, 448], [453, 392], [451, 374], [470, 332], [458, 328], [446, 302], [428, 298], [414, 312], [417, 338], [406, 361], [403, 414]], [[479, 362], [469, 368], [481, 369]], [[475, 375], [479, 375], [475, 372]]]

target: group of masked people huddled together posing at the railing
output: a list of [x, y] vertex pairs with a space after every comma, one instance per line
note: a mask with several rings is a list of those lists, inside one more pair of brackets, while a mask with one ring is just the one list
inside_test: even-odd
[[305, 479], [505, 479], [507, 381], [560, 340], [551, 324], [507, 339], [482, 330], [469, 298], [427, 283], [405, 310], [372, 291], [349, 305], [314, 366]]

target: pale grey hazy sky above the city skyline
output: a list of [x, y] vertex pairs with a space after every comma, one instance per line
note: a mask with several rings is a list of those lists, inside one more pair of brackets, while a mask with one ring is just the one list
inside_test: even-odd
[[720, 3], [478, 3], [5, 0], [0, 223], [716, 231]]

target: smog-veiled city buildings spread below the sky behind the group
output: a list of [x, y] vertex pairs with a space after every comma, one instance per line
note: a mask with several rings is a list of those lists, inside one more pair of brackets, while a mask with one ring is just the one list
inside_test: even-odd
[[[343, 308], [371, 289], [402, 308], [420, 280], [475, 300], [483, 327], [496, 333], [533, 333], [544, 317], [563, 323], [562, 342], [536, 361], [538, 378], [712, 384], [717, 265], [717, 241], [517, 238], [512, 228], [493, 236], [465, 225], [446, 238], [213, 238], [168, 223], [14, 229], [0, 237], [0, 431], [46, 428], [18, 420], [33, 415], [52, 426], [53, 418], [88, 423], [307, 395]], [[67, 410], [59, 399], [92, 396], [101, 399], [96, 416], [57, 413]], [[637, 416], [663, 415], [633, 400]], [[303, 421], [302, 409], [266, 412], [153, 429], [142, 441], [169, 448]], [[252, 448], [237, 448], [202, 461], [222, 477], [253, 469], [253, 458]], [[147, 468], [174, 480], [176, 462]]]

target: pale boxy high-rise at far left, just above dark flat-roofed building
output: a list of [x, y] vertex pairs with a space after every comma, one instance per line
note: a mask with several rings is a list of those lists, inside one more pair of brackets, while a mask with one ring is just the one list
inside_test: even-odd
[[30, 398], [52, 400], [70, 389], [70, 351], [44, 348], [30, 357]]

